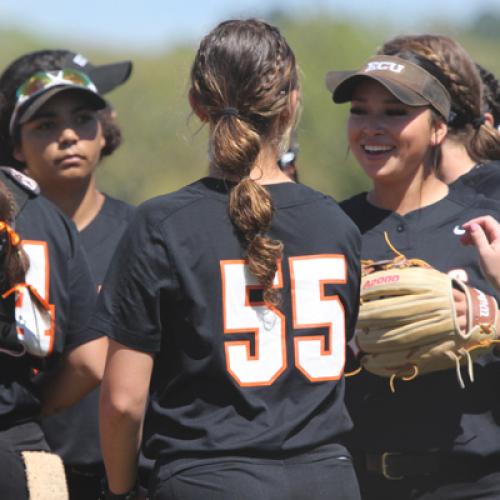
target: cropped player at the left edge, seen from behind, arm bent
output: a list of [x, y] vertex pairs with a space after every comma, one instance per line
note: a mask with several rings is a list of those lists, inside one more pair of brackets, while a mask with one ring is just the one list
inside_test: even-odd
[[[41, 476], [42, 491], [28, 493], [21, 453], [49, 451], [39, 422], [41, 394], [32, 380], [33, 370], [43, 368], [45, 376], [63, 367], [60, 377], [47, 381], [45, 386], [45, 378], [39, 376], [36, 380], [38, 385], [42, 384], [45, 410], [53, 412], [78, 400], [97, 384], [107, 342], [87, 330], [95, 290], [72, 223], [49, 201], [37, 195], [36, 183], [16, 170], [2, 168], [0, 180], [17, 201], [16, 232], [23, 240], [23, 249], [30, 261], [26, 282], [48, 303], [54, 326], [46, 332], [51, 340], [43, 361], [28, 354], [19, 357], [0, 350], [0, 496], [6, 500], [27, 500], [36, 498], [37, 494], [50, 496], [54, 490], [49, 486], [55, 481], [50, 469], [35, 471]], [[24, 299], [18, 297], [14, 304], [13, 295], [10, 297], [3, 299], [9, 301], [2, 301], [3, 307], [18, 308], [22, 317]], [[35, 324], [23, 328], [37, 329]], [[57, 498], [64, 498], [64, 489], [62, 484], [61, 490], [56, 490], [60, 495]]]

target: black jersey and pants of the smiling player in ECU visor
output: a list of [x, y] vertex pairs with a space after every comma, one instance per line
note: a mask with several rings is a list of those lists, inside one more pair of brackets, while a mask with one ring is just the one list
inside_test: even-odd
[[[461, 224], [500, 216], [500, 204], [458, 191], [406, 215], [370, 204], [366, 193], [341, 203], [362, 233], [363, 259], [392, 259], [390, 243], [408, 258], [427, 261], [494, 295], [475, 248], [460, 244]], [[474, 382], [461, 389], [455, 369], [398, 380], [368, 372], [347, 382], [350, 436], [363, 498], [500, 498], [500, 358], [474, 362]], [[467, 375], [464, 373], [464, 380]], [[484, 496], [483, 496], [484, 495]]]

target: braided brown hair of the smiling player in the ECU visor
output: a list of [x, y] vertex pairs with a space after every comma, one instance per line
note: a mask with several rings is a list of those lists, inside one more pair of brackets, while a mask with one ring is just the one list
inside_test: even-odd
[[500, 135], [484, 123], [479, 71], [457, 41], [442, 35], [400, 36], [386, 42], [379, 54], [419, 59], [450, 93], [447, 138], [463, 144], [476, 162], [500, 159]]

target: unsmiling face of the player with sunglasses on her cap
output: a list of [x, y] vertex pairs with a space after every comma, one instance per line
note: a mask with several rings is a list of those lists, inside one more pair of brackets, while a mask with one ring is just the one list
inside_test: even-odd
[[82, 182], [95, 171], [105, 145], [97, 111], [82, 94], [61, 92], [23, 124], [17, 160], [44, 190]]

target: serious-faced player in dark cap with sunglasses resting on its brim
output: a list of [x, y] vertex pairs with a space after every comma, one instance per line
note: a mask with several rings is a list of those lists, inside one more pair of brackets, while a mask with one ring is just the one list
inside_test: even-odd
[[[42, 193], [75, 222], [99, 289], [132, 207], [96, 186], [100, 160], [120, 145], [121, 132], [101, 94], [126, 81], [131, 63], [91, 65], [66, 50], [42, 50], [13, 61], [0, 77], [5, 103], [0, 126], [11, 138], [5, 161], [34, 178]], [[8, 128], [8, 130], [7, 130]], [[72, 500], [100, 495], [96, 389], [79, 404], [45, 419], [49, 445], [65, 462]]]

